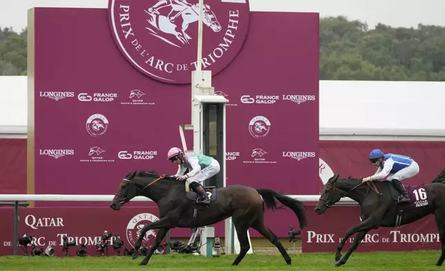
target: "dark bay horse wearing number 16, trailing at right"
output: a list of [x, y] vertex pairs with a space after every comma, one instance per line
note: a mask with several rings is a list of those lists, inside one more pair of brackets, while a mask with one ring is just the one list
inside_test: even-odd
[[[332, 176], [323, 188], [319, 202], [315, 207], [317, 214], [323, 214], [328, 207], [332, 207], [340, 198], [348, 196], [357, 201], [361, 207], [361, 222], [350, 227], [337, 247], [334, 265], [343, 265], [350, 255], [357, 249], [361, 240], [372, 229], [379, 227], [397, 227], [413, 223], [414, 221], [434, 214], [442, 243], [442, 254], [436, 265], [442, 265], [445, 260], [445, 169], [430, 184], [405, 185], [410, 196], [410, 203], [397, 202], [400, 192], [390, 181], [374, 181], [362, 183], [361, 179], [339, 179], [339, 175]], [[357, 233], [354, 241], [341, 258], [341, 250], [352, 234]]]

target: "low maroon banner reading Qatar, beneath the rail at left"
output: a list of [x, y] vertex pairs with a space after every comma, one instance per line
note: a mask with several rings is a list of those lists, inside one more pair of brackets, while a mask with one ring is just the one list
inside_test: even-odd
[[[133, 205], [134, 203], [130, 203]], [[11, 219], [2, 221], [2, 230], [0, 232], [0, 255], [14, 254], [13, 232], [14, 232], [14, 209], [1, 208], [1, 217], [10, 217]], [[88, 256], [96, 256], [97, 243], [101, 243], [104, 231], [112, 234], [108, 239], [108, 255], [115, 255], [113, 250], [113, 240], [115, 234], [124, 241], [121, 254], [124, 249], [131, 250], [140, 236], [142, 227], [159, 220], [158, 209], [153, 207], [129, 207], [126, 206], [120, 211], [113, 211], [104, 207], [89, 208], [20, 208], [19, 210], [19, 237], [26, 234], [32, 236], [32, 244], [37, 249], [51, 246], [55, 250], [55, 256], [65, 256], [62, 252], [64, 245], [64, 236], [68, 242], [75, 242], [76, 245], [68, 249], [70, 256], [76, 255], [76, 250], [81, 244], [86, 245]], [[216, 232], [223, 236], [224, 224], [216, 224]], [[149, 247], [152, 245], [158, 230], [149, 230], [142, 239], [142, 245]], [[191, 235], [190, 229], [173, 229], [172, 237], [188, 237]], [[161, 245], [167, 242], [164, 238]], [[24, 255], [24, 247], [19, 245], [18, 254]], [[28, 254], [31, 247], [28, 245]]]

